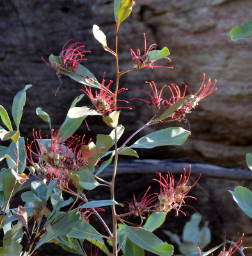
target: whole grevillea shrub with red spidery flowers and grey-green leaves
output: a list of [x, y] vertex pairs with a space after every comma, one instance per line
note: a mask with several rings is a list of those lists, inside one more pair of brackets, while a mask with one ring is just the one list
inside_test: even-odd
[[[173, 255], [173, 245], [159, 239], [153, 231], [161, 227], [166, 216], [172, 214], [170, 212], [175, 215], [184, 214], [183, 205], [187, 198], [192, 197], [191, 189], [200, 177], [189, 183], [190, 174], [193, 172], [191, 166], [182, 170], [179, 180], [174, 179], [172, 170], [162, 174], [154, 173], [154, 182], [157, 182], [160, 189], [152, 193], [150, 189], [143, 191], [141, 200], [136, 200], [133, 196], [131, 202], [117, 202], [114, 195], [117, 165], [120, 155], [138, 157], [138, 148], [152, 150], [155, 147], [182, 145], [190, 131], [172, 127], [170, 124], [173, 121], [189, 124], [188, 113], [197, 108], [201, 99], [213, 97], [212, 93], [217, 90], [216, 81], [205, 81], [204, 74], [197, 92], [191, 92], [187, 86], [180, 88], [173, 83], [164, 84], [161, 90], [154, 81], [140, 84], [136, 90], [143, 91], [141, 99], [131, 100], [142, 100], [146, 106], [154, 109], [154, 115], [127, 140], [120, 140], [125, 129], [120, 123], [120, 112], [125, 109], [134, 111], [130, 103], [123, 99], [127, 88], [121, 86], [120, 77], [141, 68], [164, 68], [164, 71], [172, 72], [168, 47], [159, 50], [155, 43], [148, 46], [145, 34], [143, 45], [139, 45], [137, 51], [131, 49], [129, 52], [132, 67], [127, 70], [120, 69], [118, 30], [135, 4], [133, 0], [114, 0], [115, 49], [107, 46], [106, 35], [97, 25], [93, 26], [95, 38], [107, 54], [114, 56], [114, 90], [111, 86], [113, 82], [107, 82], [105, 75], [100, 83], [84, 67], [86, 54], [90, 54], [90, 51], [81, 42], [70, 39], [65, 44], [63, 42], [59, 56], [51, 54], [49, 60], [43, 56], [43, 61], [52, 70], [56, 70], [59, 79], [63, 75], [74, 79], [81, 84], [80, 89], [84, 93], [73, 99], [67, 117], [60, 127], [52, 129], [50, 116], [37, 108], [36, 115], [49, 124], [51, 132], [43, 138], [40, 131], [33, 131], [33, 140], [27, 142], [20, 136], [19, 125], [26, 102], [26, 90], [31, 88], [31, 84], [26, 85], [13, 99], [12, 120], [4, 107], [0, 107], [3, 123], [3, 127], [0, 127], [1, 140], [9, 142], [8, 147], [0, 146], [1, 160], [6, 159], [6, 168], [0, 172], [0, 227], [3, 229], [0, 255], [35, 255], [36, 250], [45, 243], [58, 244], [67, 252], [77, 255], [104, 253], [114, 256], [143, 256], [145, 250], [155, 255]], [[167, 61], [167, 67], [159, 66], [161, 59]], [[170, 95], [163, 99], [162, 93], [165, 90]], [[90, 104], [76, 107], [78, 102], [81, 104], [83, 95], [90, 99]], [[97, 134], [95, 140], [86, 140], [84, 134], [75, 134], [81, 125], [91, 129], [86, 121], [87, 116], [102, 118], [111, 132]], [[140, 131], [159, 123], [167, 127], [146, 134], [139, 140], [135, 139]], [[104, 180], [101, 174], [109, 165], [113, 166], [113, 174], [108, 180]], [[24, 187], [28, 191], [20, 191]], [[86, 191], [97, 187], [109, 191], [110, 197], [105, 200], [88, 198]], [[10, 209], [10, 201], [18, 191], [21, 193], [22, 205]], [[118, 214], [118, 207], [125, 212]], [[106, 220], [111, 218], [111, 227], [103, 218], [104, 209]], [[90, 219], [90, 216], [97, 218], [99, 226], [102, 227], [99, 230], [103, 230], [102, 232], [93, 227], [93, 218]], [[130, 216], [135, 217], [136, 223], [130, 222], [131, 219], [129, 221]], [[209, 239], [209, 232], [204, 236]], [[240, 249], [241, 238], [237, 240], [235, 243], [230, 241], [230, 248], [223, 247], [219, 255], [232, 255], [235, 251], [244, 255]], [[83, 244], [90, 244], [91, 250], [86, 253]], [[198, 241], [195, 244], [200, 246]], [[216, 248], [203, 253], [197, 246], [193, 246], [193, 250], [192, 246], [187, 246], [187, 252], [193, 253], [190, 255], [209, 255]]]

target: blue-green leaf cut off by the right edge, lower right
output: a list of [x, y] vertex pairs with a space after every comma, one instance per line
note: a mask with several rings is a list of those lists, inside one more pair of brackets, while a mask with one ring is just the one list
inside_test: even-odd
[[245, 214], [252, 218], [252, 192], [248, 188], [237, 186], [235, 191], [228, 190], [233, 195], [233, 200], [244, 211]]

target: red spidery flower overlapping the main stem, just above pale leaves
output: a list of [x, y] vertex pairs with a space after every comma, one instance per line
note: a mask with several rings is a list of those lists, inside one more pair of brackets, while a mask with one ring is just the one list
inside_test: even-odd
[[[104, 74], [105, 76], [105, 74]], [[81, 90], [83, 91], [91, 100], [91, 103], [93, 104], [93, 106], [95, 107], [95, 110], [100, 113], [100, 115], [104, 116], [106, 114], [111, 113], [113, 110], [119, 109], [119, 108], [128, 108], [128, 107], [117, 107], [116, 106], [116, 102], [117, 101], [123, 101], [123, 102], [127, 102], [127, 100], [118, 100], [116, 99], [116, 95], [120, 92], [126, 91], [128, 90], [127, 88], [121, 88], [120, 90], [118, 90], [116, 93], [109, 93], [109, 86], [111, 86], [111, 83], [113, 83], [113, 81], [109, 81], [109, 84], [107, 84], [107, 86], [104, 86], [105, 83], [105, 79], [103, 77], [102, 79], [102, 84], [100, 86], [100, 92], [97, 93], [97, 91], [95, 91], [95, 96], [93, 95], [93, 93], [91, 92], [91, 86], [85, 86], [85, 90]], [[129, 103], [129, 102], [127, 102]], [[131, 109], [131, 108], [128, 108]]]

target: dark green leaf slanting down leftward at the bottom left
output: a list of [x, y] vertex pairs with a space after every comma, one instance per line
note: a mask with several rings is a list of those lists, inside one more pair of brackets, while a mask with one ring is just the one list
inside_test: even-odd
[[[65, 214], [65, 212], [63, 213]], [[58, 216], [58, 219], [63, 216], [63, 214]], [[42, 244], [47, 243], [55, 237], [62, 236], [70, 232], [70, 230], [75, 227], [76, 223], [80, 220], [80, 214], [77, 210], [72, 210], [68, 212], [61, 220], [59, 220], [55, 225], [52, 225], [52, 230], [48, 234], [42, 237], [42, 239], [36, 244], [35, 250], [38, 249]]]

